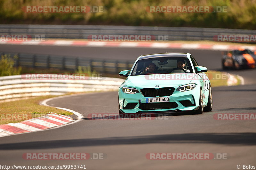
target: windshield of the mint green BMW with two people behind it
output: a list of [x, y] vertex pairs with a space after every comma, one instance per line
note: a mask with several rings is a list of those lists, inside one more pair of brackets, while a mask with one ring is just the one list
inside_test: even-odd
[[159, 57], [139, 60], [133, 70], [132, 76], [146, 74], [166, 73], [192, 73], [192, 67], [185, 57]]

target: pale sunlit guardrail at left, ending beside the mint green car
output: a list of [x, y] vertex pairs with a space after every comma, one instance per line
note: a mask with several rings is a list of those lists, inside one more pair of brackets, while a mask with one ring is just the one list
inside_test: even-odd
[[[24, 76], [25, 77], [25, 76]], [[25, 79], [22, 75], [0, 77], [0, 100], [62, 95], [67, 92], [114, 91], [124, 82], [121, 78]], [[87, 78], [87, 79], [86, 79]]]

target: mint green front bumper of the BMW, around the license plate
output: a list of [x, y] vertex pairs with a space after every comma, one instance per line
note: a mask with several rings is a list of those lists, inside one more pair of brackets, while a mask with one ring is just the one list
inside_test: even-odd
[[[135, 87], [136, 88], [136, 87]], [[141, 88], [136, 88], [140, 91]], [[146, 103], [141, 92], [126, 94], [118, 91], [120, 110], [123, 113], [171, 113], [196, 110], [199, 108], [200, 85], [186, 92], [175, 91], [169, 96], [169, 102]], [[158, 96], [157, 96], [158, 97]]]

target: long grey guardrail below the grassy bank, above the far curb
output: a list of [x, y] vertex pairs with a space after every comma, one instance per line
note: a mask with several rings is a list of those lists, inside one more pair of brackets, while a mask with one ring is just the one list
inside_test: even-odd
[[[44, 35], [45, 38], [87, 39], [89, 35], [154, 35], [156, 40], [167, 35], [173, 40], [210, 40], [220, 34], [256, 34], [256, 30], [195, 28], [195, 27], [157, 27], [157, 26], [90, 26], [90, 25], [12, 25], [0, 24], [0, 34]], [[159, 38], [159, 36], [161, 36]]]

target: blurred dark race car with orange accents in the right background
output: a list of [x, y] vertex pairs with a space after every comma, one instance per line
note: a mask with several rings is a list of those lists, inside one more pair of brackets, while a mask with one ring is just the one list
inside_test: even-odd
[[249, 49], [238, 49], [223, 52], [222, 69], [246, 69], [255, 68], [256, 53]]

